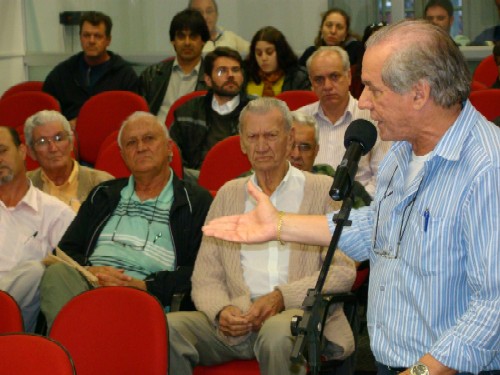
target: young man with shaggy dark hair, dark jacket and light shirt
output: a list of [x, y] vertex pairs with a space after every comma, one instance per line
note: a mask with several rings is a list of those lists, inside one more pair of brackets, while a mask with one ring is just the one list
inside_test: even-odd
[[192, 91], [206, 90], [201, 51], [210, 38], [207, 23], [197, 10], [177, 13], [170, 23], [175, 59], [146, 68], [140, 77], [141, 93], [149, 110], [165, 122], [172, 104]]

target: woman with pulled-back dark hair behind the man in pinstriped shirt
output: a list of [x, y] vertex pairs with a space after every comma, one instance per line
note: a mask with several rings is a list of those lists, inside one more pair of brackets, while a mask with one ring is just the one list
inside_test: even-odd
[[321, 19], [321, 26], [318, 36], [314, 40], [314, 46], [304, 51], [299, 63], [305, 66], [309, 56], [321, 46], [340, 46], [347, 51], [351, 66], [359, 66], [365, 47], [362, 42], [351, 34], [350, 25], [351, 17], [344, 10], [339, 8], [329, 9]]

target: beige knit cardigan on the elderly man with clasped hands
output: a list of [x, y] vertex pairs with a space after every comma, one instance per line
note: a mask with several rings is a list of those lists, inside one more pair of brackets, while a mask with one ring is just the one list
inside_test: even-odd
[[[328, 195], [331, 177], [307, 172], [304, 174], [304, 198], [299, 213], [325, 214], [340, 208]], [[244, 177], [230, 181], [217, 192], [207, 221], [244, 212], [248, 179], [249, 177]], [[326, 251], [326, 248], [298, 243], [292, 243], [290, 247], [289, 282], [277, 287], [283, 294], [285, 309], [301, 307], [307, 290], [316, 285]], [[355, 276], [354, 262], [337, 250], [323, 290], [349, 291]], [[192, 297], [197, 309], [205, 312], [214, 324], [216, 315], [223, 307], [234, 305], [245, 312], [252, 304], [250, 290], [243, 277], [239, 243], [204, 236], [196, 258], [192, 283]], [[333, 308], [324, 334], [335, 344], [335, 358], [345, 358], [354, 350], [352, 331], [341, 305]], [[245, 338], [246, 336], [226, 339], [230, 344], [237, 344]]]

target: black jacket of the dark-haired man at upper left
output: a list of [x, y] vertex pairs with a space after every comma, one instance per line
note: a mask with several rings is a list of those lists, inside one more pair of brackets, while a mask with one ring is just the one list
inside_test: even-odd
[[72, 120], [78, 117], [82, 105], [92, 96], [103, 91], [124, 90], [139, 93], [139, 77], [123, 58], [108, 51], [110, 59], [102, 76], [91, 87], [83, 82], [83, 52], [58, 64], [47, 76], [42, 90], [55, 97], [62, 114]]

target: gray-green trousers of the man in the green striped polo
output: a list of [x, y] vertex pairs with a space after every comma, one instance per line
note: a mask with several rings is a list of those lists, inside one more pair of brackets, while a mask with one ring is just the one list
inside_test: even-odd
[[41, 309], [50, 330], [57, 314], [65, 304], [78, 294], [92, 289], [80, 272], [64, 264], [56, 263], [45, 271], [40, 285]]

